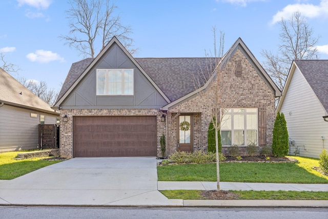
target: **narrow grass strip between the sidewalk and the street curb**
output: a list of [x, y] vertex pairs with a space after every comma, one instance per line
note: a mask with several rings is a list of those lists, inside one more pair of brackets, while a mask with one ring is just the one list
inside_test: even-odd
[[[162, 190], [169, 199], [204, 200], [201, 190]], [[328, 192], [310, 191], [235, 191], [237, 200], [328, 200]]]

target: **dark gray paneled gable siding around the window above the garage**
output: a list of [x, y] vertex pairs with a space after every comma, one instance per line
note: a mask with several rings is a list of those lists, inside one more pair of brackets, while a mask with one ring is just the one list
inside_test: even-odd
[[[133, 96], [97, 96], [97, 68], [134, 69]], [[167, 104], [130, 58], [113, 44], [102, 59], [86, 74], [61, 106], [70, 109], [158, 109]]]

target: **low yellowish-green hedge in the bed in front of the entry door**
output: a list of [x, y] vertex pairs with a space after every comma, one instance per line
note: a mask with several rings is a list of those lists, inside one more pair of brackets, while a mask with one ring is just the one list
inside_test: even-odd
[[[178, 151], [170, 155], [169, 160], [176, 164], [204, 164], [216, 161], [216, 154], [213, 152], [204, 152], [202, 150], [193, 153]], [[219, 153], [219, 161], [225, 161], [226, 157]]]

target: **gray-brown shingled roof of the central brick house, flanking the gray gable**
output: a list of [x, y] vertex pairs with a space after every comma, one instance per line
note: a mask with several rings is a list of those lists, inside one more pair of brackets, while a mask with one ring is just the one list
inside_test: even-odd
[[[202, 78], [202, 72], [210, 67], [209, 58], [135, 58], [139, 65], [153, 79], [170, 101], [195, 90], [195, 78]], [[213, 59], [212, 59], [213, 60]], [[74, 84], [76, 79], [92, 63], [86, 58], [73, 63], [60, 90], [58, 99]], [[58, 100], [57, 99], [57, 100]]]

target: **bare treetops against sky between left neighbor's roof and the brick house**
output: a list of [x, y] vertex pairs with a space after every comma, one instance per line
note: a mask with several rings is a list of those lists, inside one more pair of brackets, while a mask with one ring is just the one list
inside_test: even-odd
[[53, 106], [56, 102], [58, 91], [53, 88], [48, 89], [48, 85], [45, 81], [33, 81], [28, 80], [25, 77], [18, 77], [18, 81], [20, 84], [32, 91], [36, 96], [43, 99], [43, 101], [47, 104]]

